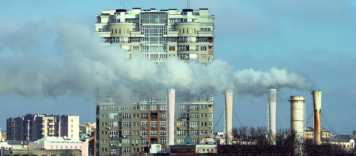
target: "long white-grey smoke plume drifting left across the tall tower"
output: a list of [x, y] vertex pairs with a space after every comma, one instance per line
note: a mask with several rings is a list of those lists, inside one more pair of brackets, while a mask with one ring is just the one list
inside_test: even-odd
[[177, 59], [157, 68], [147, 60], [126, 60], [126, 52], [105, 47], [92, 29], [67, 19], [55, 26], [43, 20], [19, 24], [22, 27], [0, 32], [2, 95], [83, 96], [99, 85], [116, 88], [119, 95], [156, 94], [171, 87], [191, 94], [233, 89], [253, 96], [263, 95], [267, 88], [310, 89], [304, 76], [287, 69], [234, 71], [223, 60], [204, 66]]

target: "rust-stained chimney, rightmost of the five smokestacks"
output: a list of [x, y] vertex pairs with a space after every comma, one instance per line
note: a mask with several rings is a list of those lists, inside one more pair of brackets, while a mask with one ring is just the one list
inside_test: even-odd
[[313, 105], [314, 105], [314, 142], [320, 145], [321, 137], [321, 125], [320, 125], [320, 116], [321, 116], [321, 91], [313, 91]]

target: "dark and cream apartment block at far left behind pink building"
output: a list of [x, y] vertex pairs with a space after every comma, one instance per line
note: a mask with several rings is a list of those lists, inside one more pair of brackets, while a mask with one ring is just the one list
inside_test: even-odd
[[6, 119], [6, 139], [35, 141], [47, 136], [79, 139], [79, 116], [26, 114]]

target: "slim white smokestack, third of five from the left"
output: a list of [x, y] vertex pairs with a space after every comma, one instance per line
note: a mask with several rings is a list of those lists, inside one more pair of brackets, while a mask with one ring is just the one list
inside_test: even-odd
[[[276, 107], [277, 107], [277, 89], [268, 89], [268, 112], [269, 112], [269, 131], [271, 132], [270, 139], [276, 136]], [[272, 141], [271, 140], [271, 141]], [[275, 142], [273, 141], [273, 144]]]

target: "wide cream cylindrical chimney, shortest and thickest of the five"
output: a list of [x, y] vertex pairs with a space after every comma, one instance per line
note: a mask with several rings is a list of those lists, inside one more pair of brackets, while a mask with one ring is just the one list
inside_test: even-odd
[[290, 132], [304, 136], [304, 96], [290, 96]]

